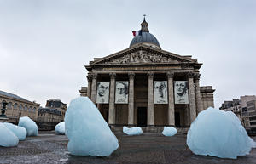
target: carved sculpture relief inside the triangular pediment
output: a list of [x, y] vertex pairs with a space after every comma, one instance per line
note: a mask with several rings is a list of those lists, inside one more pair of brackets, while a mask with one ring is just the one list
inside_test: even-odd
[[135, 53], [125, 54], [124, 56], [113, 59], [107, 64], [134, 64], [134, 63], [178, 63], [170, 57], [161, 54], [149, 53], [147, 51], [137, 51]]

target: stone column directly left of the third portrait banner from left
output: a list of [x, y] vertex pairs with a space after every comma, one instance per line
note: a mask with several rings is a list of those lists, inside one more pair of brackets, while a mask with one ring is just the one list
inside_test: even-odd
[[148, 72], [148, 126], [154, 125], [154, 73]]

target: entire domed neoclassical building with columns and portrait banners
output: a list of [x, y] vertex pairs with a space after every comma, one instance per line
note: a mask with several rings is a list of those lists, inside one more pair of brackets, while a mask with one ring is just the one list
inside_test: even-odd
[[200, 87], [201, 63], [162, 50], [144, 20], [130, 47], [85, 65], [87, 95], [111, 126], [189, 127], [213, 107], [211, 86]]

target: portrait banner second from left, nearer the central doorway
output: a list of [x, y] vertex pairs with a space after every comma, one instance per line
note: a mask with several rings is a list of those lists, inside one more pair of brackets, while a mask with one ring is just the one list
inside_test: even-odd
[[128, 81], [115, 82], [115, 103], [128, 104]]

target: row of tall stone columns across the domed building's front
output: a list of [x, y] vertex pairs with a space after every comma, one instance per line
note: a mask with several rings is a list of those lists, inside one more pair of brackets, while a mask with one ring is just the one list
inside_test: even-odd
[[[148, 126], [154, 126], [154, 72], [148, 72]], [[115, 82], [117, 73], [109, 73], [110, 76], [110, 91], [109, 91], [109, 110], [108, 110], [108, 124], [115, 124]], [[128, 100], [128, 125], [134, 125], [134, 76], [135, 72], [129, 72], [129, 100]], [[168, 83], [168, 125], [175, 125], [175, 105], [174, 105], [174, 89], [173, 89], [173, 76], [175, 72], [166, 72]], [[96, 104], [96, 82], [97, 74], [89, 74], [87, 95], [93, 103]], [[200, 74], [194, 72], [187, 72], [187, 80], [189, 82], [189, 112], [187, 123], [190, 125], [202, 110], [201, 93], [200, 93]]]

